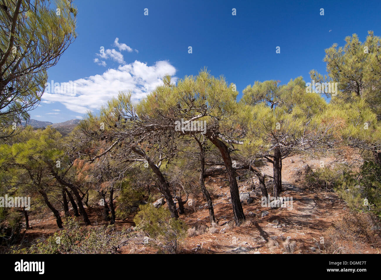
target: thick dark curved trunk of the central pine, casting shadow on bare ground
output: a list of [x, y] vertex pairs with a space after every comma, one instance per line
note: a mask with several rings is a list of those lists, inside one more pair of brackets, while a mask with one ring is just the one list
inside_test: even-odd
[[215, 136], [208, 136], [208, 139], [219, 149], [221, 156], [224, 160], [226, 172], [229, 177], [230, 195], [232, 199], [233, 213], [235, 224], [239, 226], [246, 220], [243, 213], [242, 204], [239, 198], [238, 184], [235, 174], [235, 168], [233, 167], [232, 159], [229, 154], [227, 146]]

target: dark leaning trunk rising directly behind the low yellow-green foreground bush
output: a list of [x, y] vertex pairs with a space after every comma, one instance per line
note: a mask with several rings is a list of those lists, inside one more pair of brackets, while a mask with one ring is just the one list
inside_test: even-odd
[[169, 190], [169, 184], [168, 182], [165, 180], [164, 176], [163, 176], [163, 173], [160, 171], [160, 168], [158, 168], [155, 163], [153, 163], [150, 159], [150, 157], [148, 157], [146, 155], [145, 152], [143, 152], [142, 150], [138, 150], [136, 147], [132, 147], [132, 150], [140, 155], [141, 157], [144, 157], [145, 160], [147, 160], [148, 162], [148, 165], [150, 166], [150, 168], [152, 169], [152, 171], [154, 171], [158, 181], [159, 181], [159, 189], [160, 189], [160, 192], [164, 195], [165, 197], [165, 200], [166, 200], [166, 203], [168, 205], [168, 209], [169, 211], [171, 212], [171, 217], [172, 218], [179, 218], [179, 214], [177, 213], [177, 210], [176, 210], [176, 205], [174, 205], [174, 202], [173, 202], [173, 197], [171, 195], [171, 192]]

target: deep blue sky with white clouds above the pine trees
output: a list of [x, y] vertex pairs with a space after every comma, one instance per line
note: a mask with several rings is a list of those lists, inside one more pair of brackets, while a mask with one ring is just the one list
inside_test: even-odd
[[324, 50], [333, 43], [342, 46], [354, 33], [364, 41], [368, 30], [381, 35], [379, 0], [77, 0], [75, 5], [78, 37], [48, 70], [48, 82], [74, 81], [76, 94], [44, 93], [31, 118], [53, 123], [80, 118], [86, 110], [98, 112], [118, 91], [131, 90], [140, 99], [162, 75], [176, 81], [204, 66], [235, 83], [240, 95], [257, 80], [287, 83], [303, 76], [309, 82], [311, 69], [326, 74]]

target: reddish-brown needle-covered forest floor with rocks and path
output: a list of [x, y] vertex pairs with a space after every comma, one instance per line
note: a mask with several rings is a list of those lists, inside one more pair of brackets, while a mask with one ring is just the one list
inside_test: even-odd
[[[193, 198], [193, 205], [186, 204], [185, 214], [180, 215], [190, 228], [194, 228], [194, 234], [190, 234], [181, 244], [182, 251], [184, 253], [248, 254], [327, 253], [324, 240], [330, 238], [329, 229], [348, 214], [349, 209], [334, 192], [307, 190], [301, 184], [300, 177], [304, 168], [307, 165], [310, 168], [318, 168], [321, 160], [325, 163], [332, 162], [330, 158], [306, 159], [301, 155], [283, 160], [281, 195], [293, 198], [292, 209], [262, 207], [256, 177], [239, 180], [240, 193], [249, 193], [250, 197], [254, 198], [251, 204], [242, 203], [247, 221], [239, 227], [234, 226], [227, 180], [223, 176], [222, 178], [206, 178], [205, 184], [211, 192], [217, 224], [210, 227], [209, 212], [203, 197]], [[260, 169], [265, 174], [272, 175], [272, 165], [265, 165]], [[271, 182], [268, 185], [271, 187]], [[270, 187], [268, 187], [269, 194], [272, 193]], [[262, 217], [262, 213], [266, 214], [265, 211], [268, 214]], [[89, 211], [89, 218], [93, 226], [104, 224], [99, 211], [98, 213]], [[48, 236], [57, 230], [54, 216], [40, 221], [31, 219], [30, 224], [32, 229], [27, 230], [25, 234], [28, 239], [41, 235]], [[133, 215], [126, 221], [117, 219], [115, 226], [117, 229], [133, 227]], [[381, 248], [377, 246], [362, 243], [361, 246], [356, 247], [355, 253], [379, 253], [380, 250]], [[156, 251], [154, 248], [143, 245], [138, 249], [122, 247], [122, 253], [155, 253]]]

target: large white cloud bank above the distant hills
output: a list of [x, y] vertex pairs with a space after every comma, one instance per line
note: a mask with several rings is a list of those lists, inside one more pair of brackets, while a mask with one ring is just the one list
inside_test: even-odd
[[[109, 99], [117, 96], [119, 91], [130, 90], [132, 99], [136, 101], [144, 98], [162, 84], [165, 74], [176, 74], [176, 68], [168, 61], [157, 61], [154, 65], [147, 66], [136, 60], [117, 69], [108, 69], [101, 75], [75, 80], [76, 96], [70, 96], [70, 93], [44, 93], [42, 102], [60, 102], [69, 110], [85, 114], [88, 110], [100, 109]], [[174, 77], [173, 81], [176, 82], [177, 78]]]

